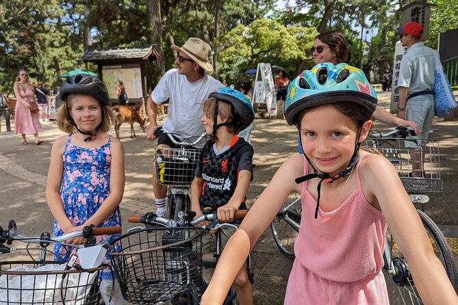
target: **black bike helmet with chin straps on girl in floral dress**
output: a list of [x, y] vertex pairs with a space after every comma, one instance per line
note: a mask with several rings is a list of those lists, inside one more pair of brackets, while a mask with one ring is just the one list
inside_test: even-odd
[[86, 74], [79, 74], [65, 79], [62, 83], [62, 86], [60, 87], [59, 97], [62, 101], [65, 102], [68, 120], [70, 120], [70, 122], [73, 124], [73, 127], [75, 127], [79, 133], [89, 135], [89, 137], [84, 139], [85, 142], [94, 140], [95, 136], [99, 133], [99, 129], [102, 127], [103, 120], [105, 118], [105, 111], [103, 110], [103, 107], [101, 109], [102, 120], [99, 126], [96, 127], [95, 133], [92, 134], [88, 131], [81, 131], [75, 123], [75, 120], [73, 120], [70, 111], [68, 110], [68, 94], [86, 94], [97, 99], [97, 101], [99, 101], [102, 106], [109, 105], [108, 102], [110, 101], [110, 96], [108, 94], [107, 86], [97, 77], [92, 77]]

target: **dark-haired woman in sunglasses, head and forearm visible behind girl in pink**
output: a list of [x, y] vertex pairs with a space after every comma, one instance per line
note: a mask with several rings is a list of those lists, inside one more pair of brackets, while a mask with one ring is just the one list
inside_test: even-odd
[[[311, 47], [311, 55], [314, 57], [316, 64], [331, 62], [334, 65], [350, 61], [350, 53], [346, 40], [338, 31], [324, 31], [315, 37], [314, 46]], [[394, 126], [406, 126], [415, 130], [416, 134], [420, 129], [416, 122], [407, 121], [390, 114], [380, 106], [377, 106], [372, 116], [381, 122]]]

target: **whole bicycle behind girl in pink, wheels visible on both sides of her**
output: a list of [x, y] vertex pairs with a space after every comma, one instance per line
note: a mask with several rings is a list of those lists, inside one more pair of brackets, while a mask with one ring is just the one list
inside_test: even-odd
[[[422, 150], [426, 156], [422, 160], [425, 169], [424, 173], [422, 173], [422, 178], [412, 177], [411, 174], [409, 175], [412, 168], [409, 149], [405, 148], [404, 145], [405, 141], [412, 141], [409, 139], [411, 135], [411, 131], [406, 127], [397, 127], [388, 133], [373, 131], [370, 134], [370, 139], [366, 142], [366, 146], [377, 150], [393, 163], [398, 170], [405, 189], [409, 193], [411, 201], [416, 204], [421, 203], [423, 208], [423, 205], [429, 202], [429, 196], [418, 194], [419, 191], [431, 192], [442, 191], [443, 189], [443, 180], [440, 176], [439, 147], [433, 141], [429, 141], [427, 145], [423, 146]], [[279, 250], [288, 258], [295, 257], [294, 241], [298, 235], [302, 212], [300, 196], [298, 194], [293, 194], [292, 196], [292, 198], [290, 196], [285, 201], [275, 216], [275, 219], [270, 224], [275, 243], [277, 243]], [[444, 265], [453, 287], [458, 291], [455, 260], [443, 233], [422, 209], [417, 209], [417, 212], [437, 257], [440, 258], [440, 261]], [[385, 238], [383, 261], [385, 274], [396, 284], [394, 286], [395, 288], [389, 291], [390, 301], [395, 304], [422, 304], [411, 278], [409, 265], [396, 246], [389, 228]]]

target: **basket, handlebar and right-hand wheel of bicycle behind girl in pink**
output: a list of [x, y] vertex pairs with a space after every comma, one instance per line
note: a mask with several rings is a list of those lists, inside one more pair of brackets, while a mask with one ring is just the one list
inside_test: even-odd
[[[387, 133], [372, 131], [366, 144], [390, 160], [396, 168], [400, 181], [403, 183], [411, 201], [414, 204], [422, 204], [422, 209], [417, 209], [418, 215], [427, 231], [435, 254], [444, 265], [455, 291], [458, 291], [457, 269], [450, 246], [448, 246], [446, 238], [437, 224], [422, 211], [424, 204], [429, 202], [429, 196], [424, 193], [442, 192], [444, 189], [444, 181], [440, 170], [439, 144], [433, 140], [426, 142], [419, 149], [422, 158], [418, 161], [420, 165], [416, 166], [414, 164], [416, 161], [410, 157], [413, 149], [405, 146], [407, 141], [417, 141], [411, 137], [413, 135], [413, 131], [407, 129], [407, 127], [397, 127]], [[414, 149], [414, 151], [418, 152], [417, 149]], [[411, 174], [414, 168], [422, 168], [420, 177], [414, 177]], [[402, 300], [405, 302], [405, 300], [410, 300], [411, 303], [404, 304], [422, 304], [418, 291], [416, 291], [415, 283], [411, 278], [409, 264], [390, 234], [390, 228], [388, 228], [386, 234], [383, 261], [385, 263], [383, 268], [396, 284], [389, 291], [390, 297], [394, 299], [393, 301], [400, 302]]]

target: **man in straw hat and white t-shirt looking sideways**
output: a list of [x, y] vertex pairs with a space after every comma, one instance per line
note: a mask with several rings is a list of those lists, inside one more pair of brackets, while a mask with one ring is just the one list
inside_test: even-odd
[[[157, 83], [147, 101], [149, 130], [147, 138], [156, 139], [157, 105], [168, 100], [168, 117], [164, 128], [170, 132], [194, 137], [205, 132], [201, 123], [203, 116], [203, 101], [216, 88], [223, 87], [220, 81], [206, 75], [205, 71], [212, 72], [213, 66], [209, 63], [212, 53], [210, 46], [199, 38], [189, 38], [183, 47], [172, 46], [179, 52], [175, 64], [177, 68], [168, 70]], [[182, 139], [179, 139], [182, 140]], [[167, 135], [157, 138], [157, 148], [175, 147]], [[165, 215], [165, 201], [167, 188], [157, 181], [155, 166], [153, 166], [153, 191], [157, 207], [157, 215]]]

